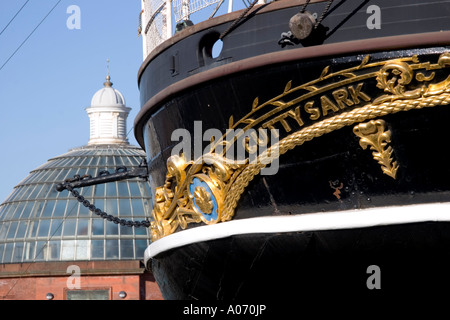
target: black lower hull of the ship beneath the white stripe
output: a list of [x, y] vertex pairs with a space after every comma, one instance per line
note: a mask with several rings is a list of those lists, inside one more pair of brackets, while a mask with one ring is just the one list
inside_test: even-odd
[[430, 222], [246, 234], [170, 250], [151, 267], [171, 300], [430, 298], [450, 285], [448, 231]]

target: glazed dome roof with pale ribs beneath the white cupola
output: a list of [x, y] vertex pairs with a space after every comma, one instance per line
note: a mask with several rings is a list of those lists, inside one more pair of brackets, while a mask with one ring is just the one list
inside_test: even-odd
[[[121, 226], [92, 214], [55, 185], [74, 175], [98, 176], [119, 166], [137, 167], [145, 152], [130, 145], [93, 145], [48, 160], [21, 181], [0, 205], [0, 263], [141, 259], [149, 245], [145, 227]], [[141, 178], [77, 189], [113, 216], [151, 216], [150, 185]]]

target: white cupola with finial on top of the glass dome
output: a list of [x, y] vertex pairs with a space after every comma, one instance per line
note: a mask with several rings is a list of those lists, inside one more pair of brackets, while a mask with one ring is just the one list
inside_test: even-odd
[[104, 87], [98, 90], [86, 108], [91, 134], [89, 145], [128, 144], [127, 117], [131, 110], [125, 105], [123, 95], [112, 87], [109, 74]]

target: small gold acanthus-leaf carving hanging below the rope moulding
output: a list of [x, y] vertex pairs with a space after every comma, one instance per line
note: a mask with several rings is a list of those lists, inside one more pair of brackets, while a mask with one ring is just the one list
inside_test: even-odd
[[383, 173], [395, 179], [398, 164], [392, 158], [394, 150], [388, 146], [391, 142], [391, 131], [386, 127], [386, 122], [382, 119], [371, 120], [356, 125], [353, 132], [360, 138], [361, 148], [365, 150], [370, 147], [373, 151], [373, 158], [381, 165]]

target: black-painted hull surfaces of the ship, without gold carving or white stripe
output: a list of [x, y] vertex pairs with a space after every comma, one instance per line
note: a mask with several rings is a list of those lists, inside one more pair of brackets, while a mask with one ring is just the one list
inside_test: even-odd
[[[381, 29], [367, 28], [371, 4], [382, 10]], [[178, 143], [171, 139], [175, 129], [193, 133], [194, 122], [201, 121], [203, 132], [225, 131], [230, 116], [246, 115], [255, 97], [267, 101], [289, 81], [300, 85], [317, 79], [327, 66], [335, 71], [357, 66], [367, 54], [371, 62], [413, 55], [436, 61], [450, 50], [450, 1], [419, 0], [334, 1], [321, 33], [281, 47], [281, 33], [302, 5], [277, 1], [255, 7], [223, 38], [215, 59], [210, 46], [239, 12], [184, 30], [144, 61], [135, 136], [146, 150], [152, 186], [165, 182], [166, 160]], [[325, 6], [311, 1], [308, 10], [320, 15]], [[371, 97], [381, 94], [373, 78], [363, 91]], [[362, 150], [352, 127], [313, 139], [282, 155], [276, 175], [256, 176], [233, 219], [448, 202], [444, 142], [449, 119], [445, 105], [383, 117], [399, 164], [396, 179], [384, 175], [371, 152]], [[305, 127], [312, 124], [304, 120]], [[333, 186], [341, 184], [338, 197]], [[163, 252], [151, 260], [151, 268], [167, 299], [433, 294], [450, 285], [448, 231], [448, 223], [424, 222], [240, 235]], [[382, 270], [381, 291], [368, 289], [371, 265]]]

